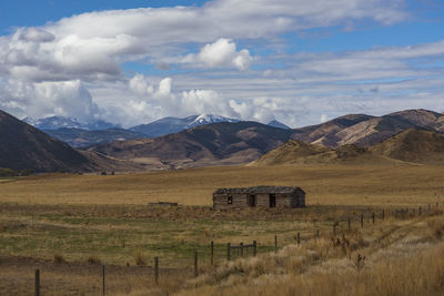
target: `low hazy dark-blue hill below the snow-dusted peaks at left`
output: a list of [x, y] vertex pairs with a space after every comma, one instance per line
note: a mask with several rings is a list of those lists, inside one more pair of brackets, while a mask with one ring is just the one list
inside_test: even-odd
[[102, 131], [87, 131], [81, 129], [46, 130], [47, 134], [59, 139], [72, 147], [87, 147], [91, 145], [147, 137], [144, 134], [123, 129]]

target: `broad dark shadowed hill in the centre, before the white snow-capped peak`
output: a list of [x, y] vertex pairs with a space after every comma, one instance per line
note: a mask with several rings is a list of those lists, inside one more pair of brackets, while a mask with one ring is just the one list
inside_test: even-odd
[[89, 151], [151, 167], [242, 164], [283, 144], [291, 134], [291, 130], [256, 122], [222, 122], [155, 139], [95, 145]]

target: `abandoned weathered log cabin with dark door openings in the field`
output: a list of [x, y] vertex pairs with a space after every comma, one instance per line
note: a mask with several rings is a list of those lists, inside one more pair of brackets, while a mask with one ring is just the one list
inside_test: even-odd
[[305, 192], [293, 186], [220, 188], [213, 193], [213, 208], [304, 207]]

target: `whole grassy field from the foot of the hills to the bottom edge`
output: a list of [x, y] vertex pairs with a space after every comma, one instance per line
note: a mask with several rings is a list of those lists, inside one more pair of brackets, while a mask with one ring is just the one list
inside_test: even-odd
[[[0, 183], [0, 294], [30, 294], [36, 268], [41, 269], [46, 295], [60, 290], [100, 295], [102, 265], [107, 287], [121, 295], [269, 295], [279, 283], [293, 288], [305, 283], [301, 284], [305, 294], [329, 295], [329, 290], [315, 288], [325, 277], [329, 285], [337, 287], [347, 277], [365, 286], [367, 278], [377, 282], [372, 276], [389, 258], [396, 275], [396, 264], [412, 254], [431, 262], [428, 269], [433, 269], [442, 263], [433, 256], [444, 248], [442, 180], [444, 170], [438, 166], [232, 166], [4, 180]], [[258, 184], [301, 186], [307, 207], [211, 210], [215, 188]], [[179, 206], [152, 206], [150, 202], [178, 202]], [[400, 208], [408, 208], [408, 213], [395, 214]], [[350, 241], [349, 246], [332, 243], [334, 223], [339, 223], [334, 237]], [[300, 246], [295, 245], [296, 233], [301, 234]], [[235, 259], [234, 254], [235, 261], [226, 263], [226, 243], [253, 239], [259, 246], [256, 258]], [[211, 241], [215, 267], [210, 266]], [[194, 251], [203, 274], [196, 279]], [[366, 256], [362, 268], [353, 267], [357, 254]], [[153, 283], [154, 256], [160, 258], [159, 285]], [[417, 261], [410, 263], [412, 273], [420, 271], [414, 265], [421, 264]], [[427, 289], [422, 287], [417, 294], [443, 292], [444, 271], [436, 268], [438, 279], [431, 278]], [[304, 279], [306, 273], [313, 274], [310, 280]], [[258, 280], [261, 290], [254, 289]], [[291, 295], [291, 290], [282, 294]], [[330, 295], [335, 293], [330, 290]]]

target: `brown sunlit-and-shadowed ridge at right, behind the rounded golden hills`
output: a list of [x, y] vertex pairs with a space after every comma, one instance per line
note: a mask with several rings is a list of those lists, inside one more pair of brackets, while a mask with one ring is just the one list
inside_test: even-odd
[[370, 147], [412, 127], [443, 132], [444, 115], [422, 109], [383, 116], [351, 114], [322, 124], [295, 129], [292, 139], [329, 147], [346, 144]]

